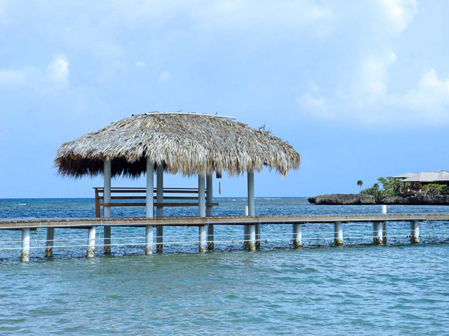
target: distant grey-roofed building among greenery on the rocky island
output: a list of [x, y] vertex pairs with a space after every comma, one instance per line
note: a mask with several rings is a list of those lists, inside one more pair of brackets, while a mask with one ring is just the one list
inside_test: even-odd
[[401, 180], [403, 183], [403, 193], [413, 195], [420, 193], [422, 188], [427, 184], [440, 184], [449, 186], [449, 172], [438, 170], [437, 172], [418, 172], [406, 173], [393, 176], [394, 179]]

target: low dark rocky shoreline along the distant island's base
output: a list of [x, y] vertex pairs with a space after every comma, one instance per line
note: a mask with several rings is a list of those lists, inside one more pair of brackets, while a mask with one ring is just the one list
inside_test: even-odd
[[390, 196], [376, 200], [372, 195], [366, 194], [328, 194], [309, 197], [310, 203], [326, 205], [368, 205], [368, 204], [389, 204], [389, 205], [449, 205], [449, 195], [415, 195], [415, 196]]

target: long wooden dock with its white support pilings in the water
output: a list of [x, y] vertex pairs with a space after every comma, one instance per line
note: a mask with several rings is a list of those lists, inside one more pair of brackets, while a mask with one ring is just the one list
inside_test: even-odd
[[[292, 225], [291, 240], [295, 248], [302, 246], [302, 226], [320, 223], [333, 224], [333, 239], [335, 246], [343, 245], [342, 224], [371, 223], [373, 225], [373, 244], [387, 242], [388, 222], [410, 223], [410, 242], [420, 243], [420, 223], [423, 222], [449, 222], [449, 214], [330, 214], [330, 215], [293, 215], [293, 216], [212, 216], [212, 217], [129, 217], [129, 218], [1, 218], [0, 230], [22, 231], [22, 261], [29, 260], [30, 231], [46, 229], [46, 257], [53, 254], [55, 239], [55, 228], [65, 229], [87, 229], [86, 255], [88, 258], [94, 256], [95, 245], [102, 246], [105, 254], [111, 253], [111, 238], [103, 238], [103, 244], [95, 244], [97, 227], [134, 227], [146, 228], [145, 254], [152, 254], [154, 245], [153, 229], [167, 227], [198, 227], [198, 241], [192, 241], [199, 245], [199, 252], [205, 252], [206, 247], [211, 250], [215, 240], [213, 227], [215, 225], [245, 225], [242, 242], [250, 251], [260, 245], [260, 225]], [[258, 228], [258, 230], [257, 230]], [[210, 230], [212, 229], [212, 230]], [[110, 230], [109, 230], [110, 232]], [[99, 238], [99, 237], [97, 237]], [[156, 236], [156, 252], [162, 252], [162, 235]], [[0, 248], [1, 249], [1, 248]]]

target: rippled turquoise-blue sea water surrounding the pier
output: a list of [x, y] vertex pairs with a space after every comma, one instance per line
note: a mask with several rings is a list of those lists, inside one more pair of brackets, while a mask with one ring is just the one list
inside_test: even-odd
[[[245, 200], [218, 202], [215, 214], [241, 214]], [[258, 214], [380, 211], [304, 199], [257, 199], [256, 207]], [[84, 217], [92, 211], [92, 200], [0, 200], [0, 218]], [[449, 244], [288, 246], [8, 259], [0, 262], [0, 335], [449, 334]]]

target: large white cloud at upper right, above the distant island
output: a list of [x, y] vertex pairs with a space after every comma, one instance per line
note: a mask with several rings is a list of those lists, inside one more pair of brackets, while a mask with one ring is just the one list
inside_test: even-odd
[[389, 86], [391, 69], [401, 59], [394, 42], [413, 22], [417, 1], [380, 0], [377, 5], [370, 14], [372, 30], [361, 34], [363, 50], [349, 75], [326, 94], [318, 86], [309, 88], [297, 103], [323, 120], [356, 120], [365, 125], [449, 123], [449, 77], [440, 78], [435, 69], [427, 69], [403, 94]]

